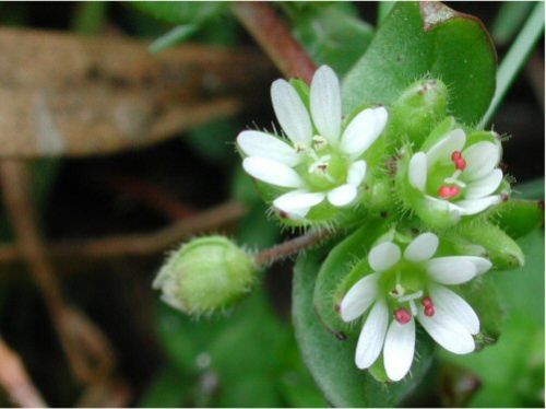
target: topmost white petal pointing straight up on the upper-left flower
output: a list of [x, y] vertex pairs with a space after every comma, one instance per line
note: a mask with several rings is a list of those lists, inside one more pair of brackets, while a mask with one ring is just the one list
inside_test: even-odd
[[311, 83], [311, 115], [314, 126], [329, 143], [337, 144], [341, 131], [340, 80], [328, 66], [317, 70]]

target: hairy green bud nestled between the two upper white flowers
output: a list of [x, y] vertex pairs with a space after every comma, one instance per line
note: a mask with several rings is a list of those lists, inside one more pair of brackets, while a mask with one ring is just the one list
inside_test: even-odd
[[405, 137], [420, 147], [435, 125], [446, 117], [447, 105], [448, 87], [443, 82], [436, 79], [414, 82], [390, 109], [387, 139], [396, 147]]

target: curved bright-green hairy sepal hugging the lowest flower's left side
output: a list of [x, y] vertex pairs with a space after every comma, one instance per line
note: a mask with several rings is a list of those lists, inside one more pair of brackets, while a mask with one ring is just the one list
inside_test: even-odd
[[366, 273], [363, 262], [367, 265], [365, 257], [371, 244], [388, 230], [387, 219], [366, 221], [330, 252], [320, 268], [313, 305], [322, 324], [337, 338], [345, 338], [354, 328], [341, 319], [339, 305], [348, 289]]

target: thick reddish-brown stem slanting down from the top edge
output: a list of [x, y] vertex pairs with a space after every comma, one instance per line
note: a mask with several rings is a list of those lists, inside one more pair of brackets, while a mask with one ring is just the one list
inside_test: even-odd
[[271, 5], [264, 1], [238, 1], [232, 11], [285, 77], [299, 77], [311, 83], [314, 62]]

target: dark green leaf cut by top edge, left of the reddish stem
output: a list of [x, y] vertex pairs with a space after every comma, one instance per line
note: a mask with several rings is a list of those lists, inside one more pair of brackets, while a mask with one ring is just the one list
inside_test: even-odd
[[226, 10], [222, 1], [132, 1], [140, 11], [171, 24], [200, 24]]

